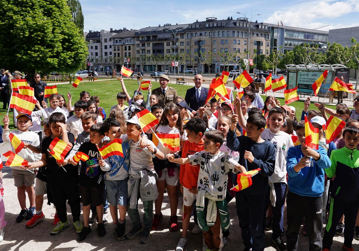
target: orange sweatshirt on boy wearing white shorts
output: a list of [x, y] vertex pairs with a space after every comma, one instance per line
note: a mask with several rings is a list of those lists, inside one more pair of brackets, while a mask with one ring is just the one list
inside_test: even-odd
[[[185, 142], [182, 150], [182, 158], [186, 158], [188, 155], [195, 154], [196, 152], [203, 151], [203, 143], [191, 143], [189, 140]], [[191, 165], [191, 163], [181, 165], [180, 168], [180, 184], [185, 188], [191, 189], [197, 187], [198, 173], [200, 170], [199, 165]]]

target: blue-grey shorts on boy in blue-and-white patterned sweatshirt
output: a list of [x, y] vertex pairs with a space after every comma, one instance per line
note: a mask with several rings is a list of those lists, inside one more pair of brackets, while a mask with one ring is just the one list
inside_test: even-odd
[[110, 205], [127, 206], [127, 181], [124, 180], [106, 180], [107, 201]]

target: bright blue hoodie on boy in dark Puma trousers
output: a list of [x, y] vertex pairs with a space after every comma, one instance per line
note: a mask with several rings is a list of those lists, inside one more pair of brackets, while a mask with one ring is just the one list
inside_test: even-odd
[[289, 191], [301, 196], [319, 197], [324, 191], [324, 169], [330, 167], [331, 161], [323, 147], [316, 150], [320, 154], [320, 159], [311, 160], [311, 165], [294, 171], [294, 166], [304, 157], [299, 146], [290, 147], [287, 153], [287, 172]]

